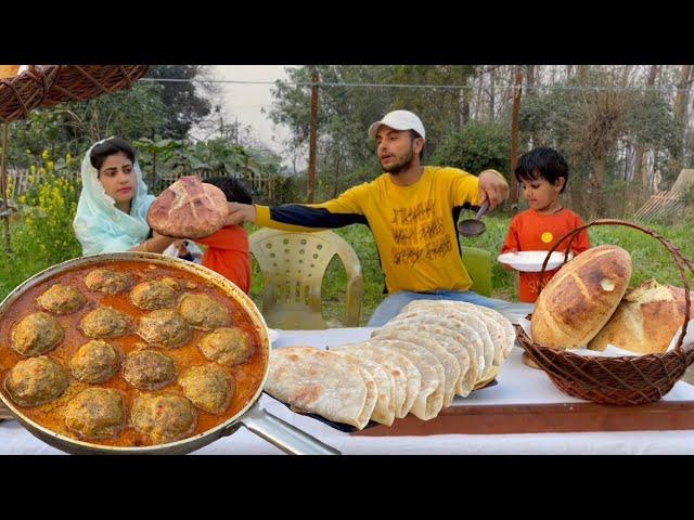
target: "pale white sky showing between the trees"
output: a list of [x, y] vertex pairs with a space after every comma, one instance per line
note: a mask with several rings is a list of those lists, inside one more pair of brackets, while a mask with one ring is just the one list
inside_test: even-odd
[[[284, 69], [292, 65], [215, 65], [215, 79], [235, 81], [275, 81], [288, 79]], [[250, 125], [253, 136], [270, 150], [281, 153], [282, 140], [288, 135], [283, 126], [275, 126], [260, 110], [269, 109], [272, 104], [271, 84], [232, 84], [219, 83], [224, 92], [224, 113], [228, 117], [239, 118], [239, 125]], [[232, 122], [229, 121], [229, 122]]]

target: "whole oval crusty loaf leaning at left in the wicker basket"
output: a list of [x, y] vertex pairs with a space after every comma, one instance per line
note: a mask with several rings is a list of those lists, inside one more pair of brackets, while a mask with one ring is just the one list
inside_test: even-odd
[[532, 339], [554, 349], [583, 347], [603, 328], [631, 278], [631, 257], [617, 246], [589, 249], [564, 265], [540, 292]]

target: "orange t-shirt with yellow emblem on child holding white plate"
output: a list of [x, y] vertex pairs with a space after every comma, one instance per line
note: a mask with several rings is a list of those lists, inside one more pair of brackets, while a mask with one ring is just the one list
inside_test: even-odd
[[[534, 209], [527, 209], [516, 214], [511, 220], [509, 234], [503, 243], [501, 252], [517, 251], [549, 251], [556, 242], [576, 227], [583, 225], [581, 218], [574, 211], [561, 209], [552, 214], [541, 214]], [[567, 238], [557, 248], [557, 251], [566, 251], [569, 239]], [[574, 239], [571, 251], [574, 255], [583, 252], [590, 248], [588, 230], [581, 231]], [[545, 271], [544, 282], [549, 282], [558, 271]], [[520, 301], [532, 303], [540, 294], [540, 273], [520, 272]]]

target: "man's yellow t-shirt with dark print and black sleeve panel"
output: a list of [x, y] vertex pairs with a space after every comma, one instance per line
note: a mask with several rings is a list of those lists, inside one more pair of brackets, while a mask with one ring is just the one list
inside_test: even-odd
[[467, 290], [457, 221], [479, 204], [477, 177], [427, 166], [420, 180], [398, 186], [384, 173], [322, 204], [256, 206], [256, 223], [284, 231], [319, 231], [354, 223], [373, 233], [389, 294]]

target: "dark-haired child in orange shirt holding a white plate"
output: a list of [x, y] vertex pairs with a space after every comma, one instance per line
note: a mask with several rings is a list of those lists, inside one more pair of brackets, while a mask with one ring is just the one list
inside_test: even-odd
[[[501, 252], [549, 251], [554, 244], [576, 227], [583, 225], [581, 218], [560, 203], [560, 194], [566, 188], [568, 165], [557, 151], [535, 148], [518, 159], [514, 174], [523, 187], [529, 209], [519, 212], [511, 221], [509, 234]], [[557, 251], [566, 251], [568, 239]], [[578, 255], [590, 248], [587, 230], [574, 239], [571, 252]], [[545, 271], [544, 283], [558, 271]], [[523, 302], [532, 303], [540, 294], [540, 273], [519, 273], [519, 295]]]

